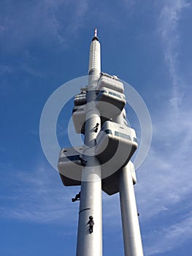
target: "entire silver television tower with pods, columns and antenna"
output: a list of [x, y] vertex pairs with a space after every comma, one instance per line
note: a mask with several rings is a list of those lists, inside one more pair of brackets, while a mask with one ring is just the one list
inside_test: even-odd
[[72, 201], [80, 200], [76, 256], [102, 255], [101, 190], [119, 192], [125, 256], [142, 256], [136, 175], [131, 157], [137, 137], [126, 120], [123, 83], [101, 72], [97, 30], [91, 42], [88, 86], [74, 96], [72, 118], [84, 145], [61, 148], [58, 170], [65, 186], [81, 186]]

